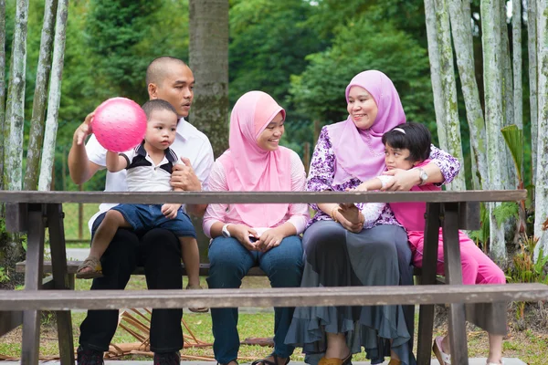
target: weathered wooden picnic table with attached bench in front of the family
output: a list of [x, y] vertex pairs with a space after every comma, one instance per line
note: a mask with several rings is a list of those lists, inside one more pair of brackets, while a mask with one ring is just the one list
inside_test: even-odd
[[[70, 309], [132, 307], [287, 307], [287, 306], [368, 306], [385, 304], [420, 305], [418, 329], [419, 364], [430, 360], [434, 303], [449, 304], [451, 357], [454, 364], [468, 363], [465, 306], [476, 308], [474, 323], [506, 318], [504, 302], [538, 301], [548, 298], [541, 284], [505, 286], [462, 286], [458, 228], [478, 229], [478, 202], [519, 201], [526, 191], [469, 192], [351, 192], [351, 193], [99, 193], [99, 192], [0, 192], [7, 205], [6, 226], [10, 231], [27, 232], [26, 288], [0, 296], [0, 328], [21, 316], [23, 311], [22, 363], [37, 364], [39, 311], [56, 310], [61, 363], [74, 363]], [[209, 289], [154, 291], [72, 291], [62, 221], [62, 203], [393, 203], [427, 202], [425, 253], [420, 286], [415, 287], [314, 287], [283, 289]], [[434, 286], [438, 228], [444, 228], [444, 250], [448, 257], [448, 285]], [[43, 283], [45, 228], [49, 230], [52, 280]], [[42, 288], [53, 288], [43, 291]], [[503, 310], [501, 310], [503, 309]], [[481, 323], [483, 322], [483, 323]], [[5, 327], [5, 326], [4, 326]]]

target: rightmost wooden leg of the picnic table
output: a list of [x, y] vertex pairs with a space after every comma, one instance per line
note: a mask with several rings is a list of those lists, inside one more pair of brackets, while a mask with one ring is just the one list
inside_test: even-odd
[[[458, 244], [458, 203], [444, 203], [443, 251], [448, 284], [462, 284], [460, 245]], [[468, 364], [466, 312], [464, 303], [449, 305], [449, 333], [452, 364]]]

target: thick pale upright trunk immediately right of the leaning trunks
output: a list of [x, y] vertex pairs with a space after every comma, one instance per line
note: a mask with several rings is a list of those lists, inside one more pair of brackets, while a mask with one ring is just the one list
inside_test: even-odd
[[[487, 131], [487, 161], [489, 188], [503, 189], [501, 172], [502, 70], [501, 70], [501, 11], [500, 0], [481, 0], [481, 43], [483, 47], [483, 82], [485, 85], [485, 124]], [[502, 150], [504, 151], [504, 150]], [[506, 258], [504, 230], [497, 223], [493, 210], [500, 203], [490, 203], [490, 255], [501, 263]]]

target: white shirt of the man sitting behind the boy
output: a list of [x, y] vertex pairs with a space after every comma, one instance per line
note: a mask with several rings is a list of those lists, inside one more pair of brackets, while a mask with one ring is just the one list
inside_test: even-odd
[[[197, 178], [202, 183], [202, 190], [206, 190], [206, 179], [214, 162], [213, 148], [207, 136], [184, 118], [181, 118], [177, 123], [175, 141], [170, 148], [174, 150], [177, 156], [186, 157], [190, 161]], [[107, 150], [100, 145], [95, 135], [91, 135], [90, 140], [86, 143], [86, 151], [90, 162], [100, 165], [103, 169], [106, 167]], [[127, 190], [125, 170], [107, 172], [105, 192], [126, 192]], [[161, 204], [162, 202], [158, 203]], [[90, 231], [95, 219], [114, 205], [116, 203], [100, 204], [99, 212], [93, 215], [88, 223]]]

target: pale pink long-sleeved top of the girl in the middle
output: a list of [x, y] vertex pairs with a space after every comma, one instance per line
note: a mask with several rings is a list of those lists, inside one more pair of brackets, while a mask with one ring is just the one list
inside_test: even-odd
[[[291, 164], [291, 191], [303, 192], [306, 183], [306, 173], [300, 157], [294, 151], [290, 155]], [[207, 190], [210, 192], [228, 192], [227, 176], [222, 163], [215, 162], [207, 180]], [[252, 227], [263, 231], [267, 228], [274, 228], [286, 222], [295, 226], [297, 235], [300, 235], [310, 219], [308, 204], [289, 204], [288, 212], [277, 223], [271, 226]], [[211, 238], [211, 226], [216, 222], [224, 224], [246, 224], [237, 213], [234, 205], [231, 204], [209, 204], [205, 210], [202, 227], [204, 233]], [[266, 224], [265, 224], [266, 225]]]

